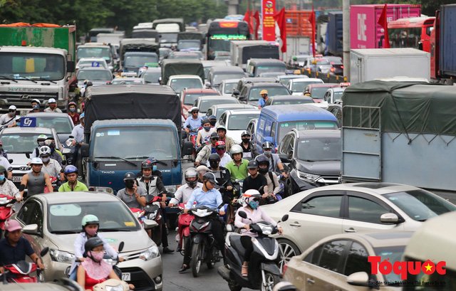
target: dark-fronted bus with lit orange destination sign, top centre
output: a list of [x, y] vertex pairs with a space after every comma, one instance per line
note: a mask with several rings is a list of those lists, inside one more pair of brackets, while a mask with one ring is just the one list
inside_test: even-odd
[[229, 41], [251, 39], [249, 25], [237, 19], [215, 19], [209, 24], [206, 34], [205, 55], [207, 60], [214, 60], [219, 53], [229, 52]]

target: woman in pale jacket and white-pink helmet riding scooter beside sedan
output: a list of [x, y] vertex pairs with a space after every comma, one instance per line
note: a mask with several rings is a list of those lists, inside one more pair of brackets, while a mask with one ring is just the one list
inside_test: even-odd
[[[258, 236], [257, 233], [250, 232], [250, 224], [259, 223], [260, 221], [267, 221], [273, 226], [277, 226], [277, 223], [271, 217], [269, 217], [263, 209], [259, 208], [259, 199], [261, 198], [259, 191], [251, 189], [244, 192], [243, 195], [246, 197], [246, 199], [244, 200], [244, 205], [239, 208], [236, 213], [234, 226], [237, 228], [244, 228], [241, 231], [241, 243], [245, 248], [244, 264], [242, 265], [242, 277], [247, 277], [250, 255], [252, 255], [252, 252], [254, 251], [252, 238]], [[247, 214], [247, 218], [242, 218], [239, 216], [239, 211], [244, 211]], [[277, 230], [279, 233], [284, 233], [284, 230], [280, 226], [277, 227]]]

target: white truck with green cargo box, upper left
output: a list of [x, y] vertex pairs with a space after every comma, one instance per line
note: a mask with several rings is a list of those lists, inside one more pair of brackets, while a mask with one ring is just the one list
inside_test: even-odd
[[0, 46], [0, 112], [10, 105], [28, 112], [32, 99], [46, 105], [55, 98], [66, 107], [68, 92], [76, 88], [76, 26], [1, 25]]

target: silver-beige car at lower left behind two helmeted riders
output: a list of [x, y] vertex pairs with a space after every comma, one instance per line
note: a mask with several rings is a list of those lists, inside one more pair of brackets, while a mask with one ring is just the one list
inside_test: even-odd
[[68, 274], [75, 258], [74, 242], [81, 233], [81, 221], [86, 214], [98, 217], [98, 233], [113, 248], [125, 243], [122, 256], [126, 260], [118, 264], [122, 279], [138, 290], [162, 290], [162, 258], [145, 231], [157, 223], [144, 221], [145, 228], [142, 228], [138, 218], [117, 196], [93, 191], [33, 195], [11, 216], [19, 221], [34, 250], [49, 248], [48, 255], [43, 257], [44, 279], [52, 282]]

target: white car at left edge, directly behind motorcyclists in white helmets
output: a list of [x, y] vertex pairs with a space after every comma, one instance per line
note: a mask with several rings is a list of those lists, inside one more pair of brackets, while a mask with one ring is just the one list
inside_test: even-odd
[[[44, 112], [42, 112], [44, 113]], [[41, 113], [38, 113], [41, 114]], [[0, 140], [3, 149], [8, 152], [8, 159], [12, 159], [13, 183], [21, 185], [22, 176], [31, 170], [28, 166], [30, 154], [38, 147], [36, 138], [40, 134], [53, 137], [56, 140], [56, 149], [61, 149], [63, 156], [69, 154], [69, 149], [63, 150], [56, 129], [48, 127], [6, 127], [0, 132]]]

